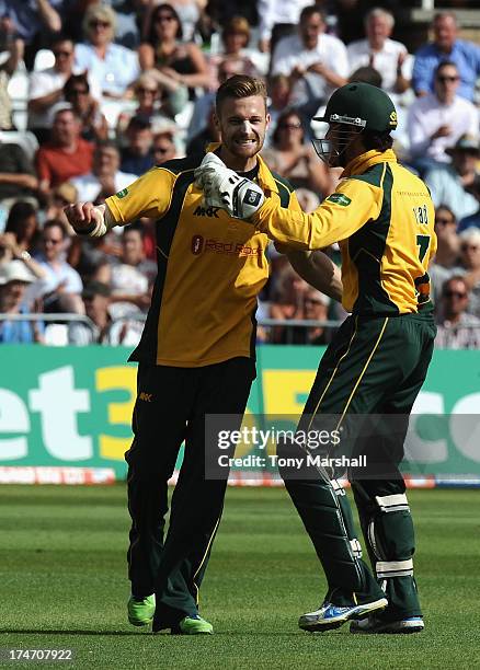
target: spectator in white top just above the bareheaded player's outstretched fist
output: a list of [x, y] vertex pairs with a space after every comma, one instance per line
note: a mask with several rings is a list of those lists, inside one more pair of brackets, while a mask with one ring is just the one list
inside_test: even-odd
[[80, 203], [100, 205], [111, 195], [123, 190], [137, 178], [119, 170], [119, 151], [115, 142], [105, 140], [95, 147], [92, 172], [71, 180]]

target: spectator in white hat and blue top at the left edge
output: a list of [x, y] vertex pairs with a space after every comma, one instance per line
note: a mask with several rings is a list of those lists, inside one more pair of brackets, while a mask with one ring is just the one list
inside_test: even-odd
[[[34, 281], [22, 261], [11, 261], [0, 268], [0, 313], [28, 314], [26, 288]], [[43, 342], [44, 326], [38, 321], [0, 321], [1, 344]]]

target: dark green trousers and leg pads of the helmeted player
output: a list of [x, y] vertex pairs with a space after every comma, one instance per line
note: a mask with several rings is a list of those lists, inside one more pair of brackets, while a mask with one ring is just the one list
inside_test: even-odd
[[[317, 469], [315, 476], [298, 478], [282, 471], [325, 571], [327, 600], [348, 605], [386, 596], [385, 616], [392, 621], [421, 614], [413, 579], [413, 523], [399, 464], [435, 332], [430, 312], [350, 316], [320, 361], [298, 426], [302, 432], [344, 431], [346, 455], [365, 455], [369, 466], [351, 467], [347, 476], [373, 573], [362, 559], [350, 504], [336, 481], [342, 473]], [[339, 455], [335, 449], [330, 446], [324, 453]]]

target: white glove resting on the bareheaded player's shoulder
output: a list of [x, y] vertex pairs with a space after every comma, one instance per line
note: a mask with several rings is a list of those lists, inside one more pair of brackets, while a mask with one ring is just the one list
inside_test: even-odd
[[207, 207], [221, 207], [235, 219], [249, 219], [265, 199], [258, 184], [229, 170], [210, 152], [195, 170], [195, 184], [203, 189]]

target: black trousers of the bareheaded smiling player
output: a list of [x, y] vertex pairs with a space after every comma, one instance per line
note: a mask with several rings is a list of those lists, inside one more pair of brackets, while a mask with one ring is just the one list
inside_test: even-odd
[[[132, 517], [128, 576], [136, 598], [156, 593], [157, 627], [197, 613], [228, 478], [226, 469], [221, 478], [205, 476], [208, 450], [212, 454], [217, 449], [214, 440], [206, 443], [205, 416], [229, 415], [226, 428], [238, 430], [254, 377], [249, 358], [203, 368], [139, 365], [135, 437], [125, 454]], [[182, 442], [185, 453], [165, 535], [167, 482]]]

